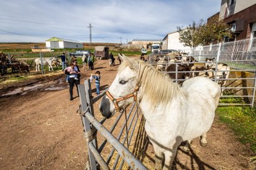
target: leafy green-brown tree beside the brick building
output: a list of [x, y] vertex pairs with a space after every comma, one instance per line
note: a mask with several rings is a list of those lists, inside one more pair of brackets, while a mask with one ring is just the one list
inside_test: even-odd
[[208, 19], [208, 22], [202, 19], [197, 24], [193, 22], [186, 29], [177, 26], [177, 30], [179, 32], [179, 41], [183, 42], [184, 46], [189, 46], [192, 49], [199, 45], [207, 46], [211, 42], [221, 41], [223, 36], [231, 37], [228, 25], [219, 20], [218, 15]]

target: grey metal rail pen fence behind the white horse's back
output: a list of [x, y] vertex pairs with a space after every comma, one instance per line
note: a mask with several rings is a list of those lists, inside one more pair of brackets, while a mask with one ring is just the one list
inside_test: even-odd
[[[189, 56], [188, 56], [189, 57]], [[199, 56], [194, 56], [195, 58]], [[249, 105], [250, 107], [254, 107], [255, 103], [255, 92], [256, 92], [256, 68], [239, 68], [239, 69], [231, 69], [229, 70], [229, 77], [216, 76], [221, 75], [223, 70], [218, 70], [217, 67], [211, 70], [203, 70], [203, 71], [181, 71], [179, 70], [179, 65], [182, 64], [194, 64], [195, 66], [205, 66], [205, 63], [215, 63], [218, 65], [219, 63], [227, 63], [227, 65], [240, 65], [241, 63], [256, 63], [256, 59], [253, 60], [216, 60], [215, 62], [170, 62], [174, 57], [159, 57], [158, 55], [150, 55], [148, 57], [148, 62], [153, 67], [159, 68], [161, 67], [161, 72], [164, 74], [173, 73], [175, 74], [175, 78], [173, 79], [176, 83], [181, 83], [186, 79], [178, 79], [178, 74], [182, 73], [190, 73], [190, 78], [196, 73], [205, 73], [207, 72], [210, 76], [210, 79], [220, 84], [222, 82], [226, 82], [225, 86], [221, 86], [221, 99], [219, 105], [228, 106], [228, 105]], [[159, 62], [161, 60], [161, 62]], [[166, 68], [169, 65], [175, 65], [175, 70], [166, 71]], [[242, 65], [242, 64], [241, 64]], [[179, 71], [178, 71], [179, 70]], [[224, 100], [232, 98], [233, 100]]]

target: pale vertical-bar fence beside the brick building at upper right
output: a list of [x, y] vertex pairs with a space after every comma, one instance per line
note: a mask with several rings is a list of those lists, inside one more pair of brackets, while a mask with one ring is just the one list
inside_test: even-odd
[[192, 56], [200, 62], [205, 61], [206, 58], [215, 58], [220, 62], [234, 61], [229, 62], [231, 68], [254, 70], [256, 68], [256, 38], [198, 47], [192, 51]]

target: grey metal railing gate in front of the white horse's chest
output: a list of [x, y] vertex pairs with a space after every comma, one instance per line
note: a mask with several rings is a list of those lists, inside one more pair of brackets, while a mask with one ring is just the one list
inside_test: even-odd
[[[85, 79], [84, 85], [79, 84], [80, 108], [78, 112], [81, 115], [85, 138], [87, 139], [87, 169], [110, 169], [109, 163], [111, 161], [113, 162], [113, 169], [117, 168], [117, 163], [119, 164], [119, 169], [122, 169], [124, 162], [132, 169], [147, 169], [128, 149], [140, 116], [140, 109], [137, 102], [134, 102], [129, 109], [127, 108], [127, 111], [121, 111], [113, 125], [109, 127], [109, 130], [103, 126], [106, 118], [101, 120], [95, 118], [93, 104], [95, 105], [105, 95], [107, 90], [103, 91], [97, 97], [92, 98], [90, 81]], [[127, 113], [128, 111], [129, 113]], [[120, 122], [121, 118], [125, 120], [124, 123]], [[119, 126], [118, 129], [120, 131], [116, 133], [117, 136], [114, 136], [113, 131], [118, 130], [116, 129], [117, 126]], [[105, 139], [98, 139], [99, 134]], [[102, 152], [107, 142], [113, 148], [108, 150], [108, 156], [103, 156]], [[118, 155], [113, 156], [115, 150]]]

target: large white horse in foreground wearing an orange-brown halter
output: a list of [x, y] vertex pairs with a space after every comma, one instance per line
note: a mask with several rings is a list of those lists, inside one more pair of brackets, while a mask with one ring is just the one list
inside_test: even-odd
[[220, 99], [220, 86], [208, 78], [195, 77], [182, 87], [151, 65], [120, 55], [122, 64], [100, 103], [101, 114], [110, 118], [116, 110], [140, 103], [145, 131], [155, 150], [156, 169], [171, 169], [177, 147], [202, 137], [207, 145], [209, 131]]

